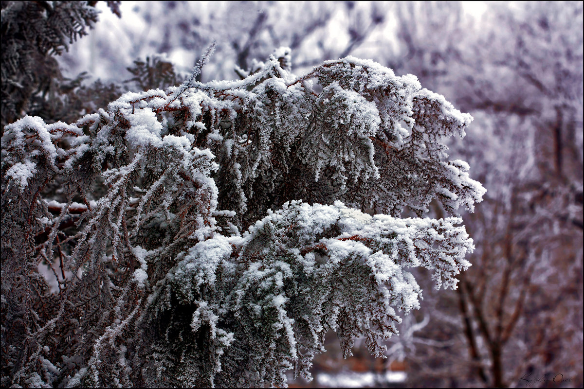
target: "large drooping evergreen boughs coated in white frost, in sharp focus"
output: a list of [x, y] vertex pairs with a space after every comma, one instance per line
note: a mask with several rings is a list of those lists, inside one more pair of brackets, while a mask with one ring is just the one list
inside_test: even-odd
[[[297, 77], [282, 53], [6, 125], [2, 386], [286, 386], [331, 329], [383, 356], [409, 269], [456, 288], [456, 209], [485, 190], [444, 139], [470, 115], [372, 61]], [[422, 218], [433, 199], [449, 217]]]

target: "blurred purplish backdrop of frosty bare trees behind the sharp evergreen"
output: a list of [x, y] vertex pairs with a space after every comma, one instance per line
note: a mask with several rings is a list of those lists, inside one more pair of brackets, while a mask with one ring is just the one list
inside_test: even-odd
[[[457, 290], [432, 289], [388, 358], [334, 334], [312, 387], [582, 387], [582, 2], [122, 2], [58, 61], [89, 83], [123, 82], [134, 61], [237, 79], [275, 48], [300, 75], [353, 55], [412, 73], [474, 117], [450, 154], [488, 192], [463, 213], [477, 247]], [[436, 206], [432, 215], [440, 217]], [[408, 214], [404, 216], [410, 216]]]

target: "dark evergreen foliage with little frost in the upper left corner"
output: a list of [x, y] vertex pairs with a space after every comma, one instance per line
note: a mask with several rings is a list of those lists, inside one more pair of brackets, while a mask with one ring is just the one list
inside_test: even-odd
[[[77, 99], [68, 92], [80, 86], [84, 75], [64, 78], [54, 55], [88, 34], [98, 21], [96, 3], [2, 2], [2, 127], [24, 112], [64, 120], [75, 112], [75, 105], [82, 104], [82, 97], [87, 96]], [[107, 6], [121, 16], [119, 1], [107, 1]], [[71, 99], [78, 101], [69, 102]]]

